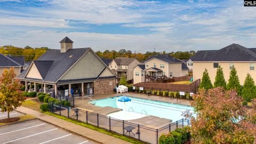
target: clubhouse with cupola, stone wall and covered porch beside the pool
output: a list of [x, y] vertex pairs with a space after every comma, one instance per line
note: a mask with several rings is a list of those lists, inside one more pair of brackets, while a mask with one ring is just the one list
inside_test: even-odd
[[31, 62], [17, 78], [26, 85], [42, 84], [45, 93], [50, 86], [53, 95], [63, 90], [70, 95], [71, 89], [79, 96], [113, 92], [117, 77], [91, 48], [73, 49], [68, 37], [60, 45], [60, 50], [47, 51]]

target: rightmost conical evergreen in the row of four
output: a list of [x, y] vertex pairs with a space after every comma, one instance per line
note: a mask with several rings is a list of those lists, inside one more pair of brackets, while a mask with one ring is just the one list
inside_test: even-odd
[[256, 86], [254, 85], [254, 81], [250, 74], [247, 74], [245, 78], [242, 97], [247, 102], [250, 102], [252, 99], [256, 98]]

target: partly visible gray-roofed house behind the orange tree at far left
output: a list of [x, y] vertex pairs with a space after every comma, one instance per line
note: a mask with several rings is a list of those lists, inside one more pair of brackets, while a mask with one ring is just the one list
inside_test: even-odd
[[14, 73], [18, 76], [23, 71], [24, 65], [24, 57], [12, 57], [0, 53], [0, 75], [2, 75], [4, 69], [14, 68]]

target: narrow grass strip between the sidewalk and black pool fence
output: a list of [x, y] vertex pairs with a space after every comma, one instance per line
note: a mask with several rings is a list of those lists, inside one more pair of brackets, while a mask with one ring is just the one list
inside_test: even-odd
[[57, 115], [57, 114], [53, 114], [53, 113], [50, 113], [49, 111], [46, 111], [46, 112], [43, 112], [44, 114], [47, 114], [47, 115], [51, 115], [51, 116], [54, 116], [54, 117], [57, 117], [57, 118], [60, 118], [60, 119], [63, 119], [65, 121], [68, 121], [68, 122], [71, 122], [71, 123], [74, 123], [74, 124], [77, 124], [77, 125], [81, 125], [81, 126], [84, 126], [84, 127], [87, 127], [91, 130], [95, 130], [95, 131], [98, 131], [98, 132], [101, 132], [101, 133], [105, 133], [105, 134], [108, 134], [112, 137], [116, 137], [118, 139], [122, 139], [122, 140], [125, 140], [125, 141], [128, 141], [128, 142], [131, 142], [131, 143], [145, 143], [145, 142], [142, 142], [142, 141], [139, 141], [139, 140], [136, 140], [136, 139], [133, 139], [133, 138], [130, 138], [130, 137], [126, 137], [122, 134], [118, 134], [118, 133], [115, 133], [115, 132], [110, 132], [106, 129], [102, 129], [100, 127], [97, 127], [97, 126], [94, 126], [94, 125], [91, 125], [91, 124], [86, 124], [84, 122], [79, 122], [79, 121], [76, 121], [74, 119], [71, 119], [71, 118], [67, 118], [65, 116], [60, 116], [60, 115]]

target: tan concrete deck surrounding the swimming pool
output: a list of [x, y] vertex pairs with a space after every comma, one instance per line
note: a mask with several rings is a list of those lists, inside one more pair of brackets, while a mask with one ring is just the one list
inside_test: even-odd
[[[96, 99], [103, 99], [103, 98], [109, 98], [109, 97], [115, 97], [118, 95], [127, 95], [130, 97], [137, 97], [137, 98], [143, 98], [143, 99], [150, 99], [150, 100], [157, 100], [157, 101], [164, 101], [164, 102], [170, 102], [170, 103], [178, 103], [180, 105], [186, 105], [186, 106], [190, 106], [190, 101], [189, 100], [184, 100], [181, 99], [179, 102], [176, 99], [173, 98], [169, 98], [169, 97], [159, 97], [156, 95], [150, 95], [147, 96], [146, 94], [141, 94], [141, 93], [112, 93], [112, 94], [101, 94], [101, 95], [92, 95], [91, 98], [93, 100]], [[80, 108], [82, 110], [87, 110], [90, 111], [92, 113], [98, 113], [101, 115], [108, 115], [110, 113], [114, 113], [116, 111], [122, 110], [119, 108], [113, 108], [113, 107], [99, 107], [99, 106], [94, 106], [91, 103], [89, 103], [89, 101], [91, 101], [89, 98], [76, 98], [75, 99], [75, 105], [77, 108]], [[151, 127], [154, 129], [158, 129], [160, 127], [166, 126], [168, 124], [170, 124], [171, 120], [170, 119], [166, 119], [166, 118], [161, 118], [161, 117], [156, 117], [156, 116], [146, 116], [146, 117], [142, 117], [139, 119], [133, 119], [127, 122], [131, 122], [131, 123], [135, 123], [135, 124], [140, 124], [140, 125], [144, 125], [147, 127]]]

